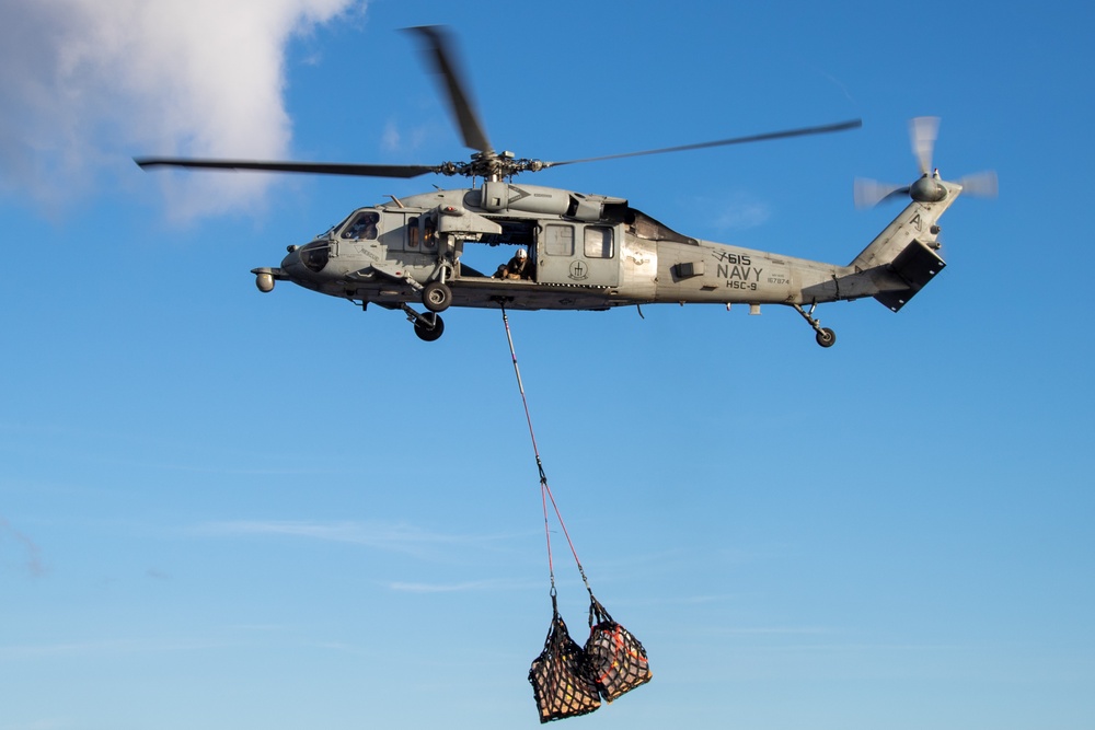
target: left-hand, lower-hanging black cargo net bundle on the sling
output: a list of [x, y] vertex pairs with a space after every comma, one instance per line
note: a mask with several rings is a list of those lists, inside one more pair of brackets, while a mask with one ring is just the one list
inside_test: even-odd
[[592, 712], [601, 706], [597, 684], [586, 671], [585, 654], [566, 630], [552, 596], [554, 615], [544, 650], [532, 662], [529, 682], [540, 710], [540, 722]]

